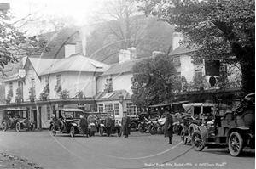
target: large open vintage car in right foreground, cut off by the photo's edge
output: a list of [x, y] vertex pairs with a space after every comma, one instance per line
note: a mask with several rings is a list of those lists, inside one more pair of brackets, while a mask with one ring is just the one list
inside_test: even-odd
[[248, 94], [235, 110], [218, 106], [214, 119], [195, 129], [191, 140], [196, 151], [212, 144], [228, 147], [232, 156], [239, 156], [244, 147], [255, 149], [255, 93]]

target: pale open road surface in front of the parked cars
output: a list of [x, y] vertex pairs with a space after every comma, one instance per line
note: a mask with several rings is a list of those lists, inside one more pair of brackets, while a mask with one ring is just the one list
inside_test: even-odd
[[131, 132], [128, 139], [96, 136], [71, 138], [60, 132], [0, 131], [0, 153], [18, 155], [45, 169], [76, 168], [255, 168], [255, 150], [232, 157], [227, 149], [196, 152], [174, 135], [167, 144], [162, 134]]

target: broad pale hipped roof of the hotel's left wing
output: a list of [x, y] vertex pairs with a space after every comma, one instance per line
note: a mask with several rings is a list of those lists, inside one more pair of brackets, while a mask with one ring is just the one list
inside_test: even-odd
[[108, 69], [109, 65], [90, 59], [81, 54], [73, 54], [68, 58], [58, 60], [55, 64], [44, 70], [44, 72], [40, 73], [39, 76], [67, 71], [105, 72]]

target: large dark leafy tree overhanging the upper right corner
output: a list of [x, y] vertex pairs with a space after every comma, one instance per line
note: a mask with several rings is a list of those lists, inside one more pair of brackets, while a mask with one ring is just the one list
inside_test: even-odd
[[193, 59], [239, 64], [243, 93], [255, 92], [255, 0], [138, 0], [145, 14], [176, 25]]

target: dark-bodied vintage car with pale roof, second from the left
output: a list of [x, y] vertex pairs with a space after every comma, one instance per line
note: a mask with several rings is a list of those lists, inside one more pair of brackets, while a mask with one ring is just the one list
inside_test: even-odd
[[[80, 109], [56, 109], [53, 121], [50, 122], [49, 130], [55, 136], [57, 132], [68, 133], [71, 137], [81, 133], [79, 121], [84, 111]], [[96, 127], [89, 125], [89, 134], [92, 136], [96, 131]]]

